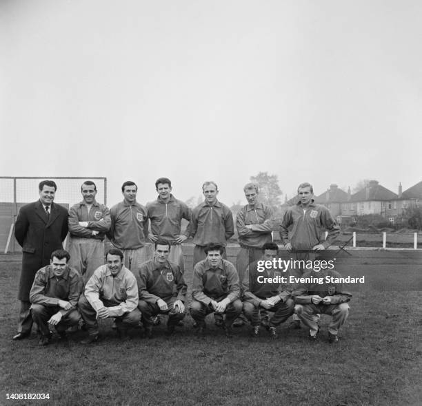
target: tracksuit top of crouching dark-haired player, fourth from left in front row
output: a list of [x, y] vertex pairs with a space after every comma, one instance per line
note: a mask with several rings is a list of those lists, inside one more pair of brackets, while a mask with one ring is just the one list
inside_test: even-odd
[[230, 302], [240, 297], [239, 275], [234, 265], [221, 259], [216, 269], [204, 259], [194, 267], [192, 297], [208, 305], [211, 300], [221, 301], [226, 297]]

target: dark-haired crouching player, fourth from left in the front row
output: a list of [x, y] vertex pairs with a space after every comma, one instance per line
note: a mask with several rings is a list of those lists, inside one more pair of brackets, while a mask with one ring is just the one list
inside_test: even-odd
[[205, 331], [206, 315], [217, 312], [225, 314], [225, 335], [231, 337], [233, 321], [242, 311], [239, 275], [231, 262], [222, 259], [223, 252], [221, 244], [208, 244], [207, 257], [194, 267], [190, 314], [199, 326], [199, 335]]

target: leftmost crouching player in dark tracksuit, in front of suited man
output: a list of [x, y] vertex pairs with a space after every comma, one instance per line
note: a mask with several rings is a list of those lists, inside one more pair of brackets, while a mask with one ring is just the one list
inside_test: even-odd
[[79, 272], [68, 266], [70, 255], [66, 250], [55, 250], [50, 265], [35, 275], [30, 291], [32, 319], [41, 331], [39, 345], [48, 345], [51, 339], [48, 324], [54, 325], [59, 339], [67, 339], [66, 329], [77, 325], [81, 318], [77, 310], [83, 280]]

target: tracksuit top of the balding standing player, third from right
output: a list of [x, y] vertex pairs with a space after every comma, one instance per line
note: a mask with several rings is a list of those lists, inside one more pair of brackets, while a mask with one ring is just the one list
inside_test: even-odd
[[203, 247], [210, 242], [225, 245], [233, 234], [233, 215], [225, 204], [218, 200], [212, 206], [203, 202], [193, 209], [190, 235], [195, 245]]

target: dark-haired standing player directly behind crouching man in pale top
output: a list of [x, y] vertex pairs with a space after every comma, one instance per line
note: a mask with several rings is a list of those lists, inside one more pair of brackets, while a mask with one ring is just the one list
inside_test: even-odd
[[147, 240], [148, 213], [137, 202], [138, 186], [128, 180], [121, 186], [123, 202], [110, 209], [111, 227], [108, 237], [124, 255], [125, 268], [135, 272], [152, 258], [152, 246]]

